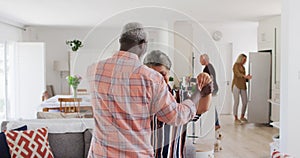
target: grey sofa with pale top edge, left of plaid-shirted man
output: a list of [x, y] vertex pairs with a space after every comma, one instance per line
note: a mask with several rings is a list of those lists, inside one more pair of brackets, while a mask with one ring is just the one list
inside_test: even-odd
[[48, 127], [49, 144], [55, 158], [83, 158], [88, 154], [92, 133], [88, 133], [87, 131], [91, 131], [94, 128], [94, 119], [17, 120], [9, 121], [5, 124], [2, 123], [2, 129], [14, 129], [22, 125], [27, 125], [28, 129]]

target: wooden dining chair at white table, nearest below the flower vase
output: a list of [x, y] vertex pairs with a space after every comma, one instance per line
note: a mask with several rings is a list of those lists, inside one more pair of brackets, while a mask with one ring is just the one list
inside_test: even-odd
[[80, 112], [80, 102], [82, 98], [58, 98], [58, 101], [60, 112]]

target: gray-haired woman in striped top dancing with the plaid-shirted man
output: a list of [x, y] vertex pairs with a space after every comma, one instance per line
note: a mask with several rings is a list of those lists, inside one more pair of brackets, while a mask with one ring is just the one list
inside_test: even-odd
[[[169, 72], [172, 66], [169, 57], [160, 50], [153, 50], [144, 59], [144, 64], [153, 70], [159, 72], [167, 83], [169, 92], [172, 89], [168, 85]], [[178, 100], [178, 99], [177, 99]], [[210, 102], [210, 96], [200, 99], [200, 105], [197, 114], [205, 112], [202, 106], [206, 106]], [[205, 108], [206, 109], [206, 108]], [[184, 145], [186, 138], [186, 124], [179, 126], [168, 125], [160, 121], [156, 115], [151, 120], [152, 136], [151, 143], [154, 149], [154, 157], [177, 158], [184, 156]]]

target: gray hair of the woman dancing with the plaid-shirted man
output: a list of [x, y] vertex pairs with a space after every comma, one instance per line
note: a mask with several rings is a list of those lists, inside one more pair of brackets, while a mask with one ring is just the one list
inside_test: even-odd
[[153, 50], [144, 59], [144, 64], [148, 66], [164, 65], [168, 70], [171, 69], [172, 63], [170, 58], [160, 50]]

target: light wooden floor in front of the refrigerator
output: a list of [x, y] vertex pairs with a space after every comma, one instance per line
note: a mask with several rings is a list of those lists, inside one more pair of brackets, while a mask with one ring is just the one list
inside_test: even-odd
[[220, 116], [223, 150], [215, 158], [269, 158], [272, 136], [279, 133], [275, 127], [263, 124], [234, 125], [232, 115]]

